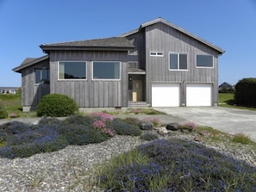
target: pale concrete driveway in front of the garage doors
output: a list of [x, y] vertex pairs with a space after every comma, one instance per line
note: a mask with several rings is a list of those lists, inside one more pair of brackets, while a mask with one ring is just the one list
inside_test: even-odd
[[154, 109], [225, 133], [244, 133], [256, 141], [256, 111], [221, 107]]

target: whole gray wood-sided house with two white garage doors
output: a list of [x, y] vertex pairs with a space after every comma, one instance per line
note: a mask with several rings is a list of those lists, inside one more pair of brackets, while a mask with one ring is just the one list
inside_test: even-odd
[[40, 46], [45, 56], [25, 59], [24, 111], [46, 94], [65, 94], [80, 108], [214, 106], [218, 56], [224, 51], [162, 18], [126, 34]]

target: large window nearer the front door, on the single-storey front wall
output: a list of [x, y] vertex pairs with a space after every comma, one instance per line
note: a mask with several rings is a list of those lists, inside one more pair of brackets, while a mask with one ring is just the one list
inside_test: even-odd
[[93, 79], [120, 79], [120, 62], [93, 62]]

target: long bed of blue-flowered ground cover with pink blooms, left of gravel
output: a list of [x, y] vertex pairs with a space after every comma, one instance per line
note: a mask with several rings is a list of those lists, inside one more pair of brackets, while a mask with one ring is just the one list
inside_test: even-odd
[[[98, 121], [103, 124], [98, 124]], [[115, 134], [139, 136], [141, 131], [103, 113], [72, 115], [63, 121], [45, 117], [37, 125], [10, 121], [0, 126], [0, 157], [27, 158], [40, 152], [54, 152], [68, 145], [100, 143]]]

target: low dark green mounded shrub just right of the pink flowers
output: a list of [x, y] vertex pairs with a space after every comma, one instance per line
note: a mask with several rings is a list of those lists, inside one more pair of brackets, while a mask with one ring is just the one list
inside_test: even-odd
[[112, 121], [112, 127], [116, 131], [116, 134], [120, 135], [131, 135], [131, 136], [140, 136], [141, 130], [139, 127], [134, 127], [128, 123], [115, 119]]

